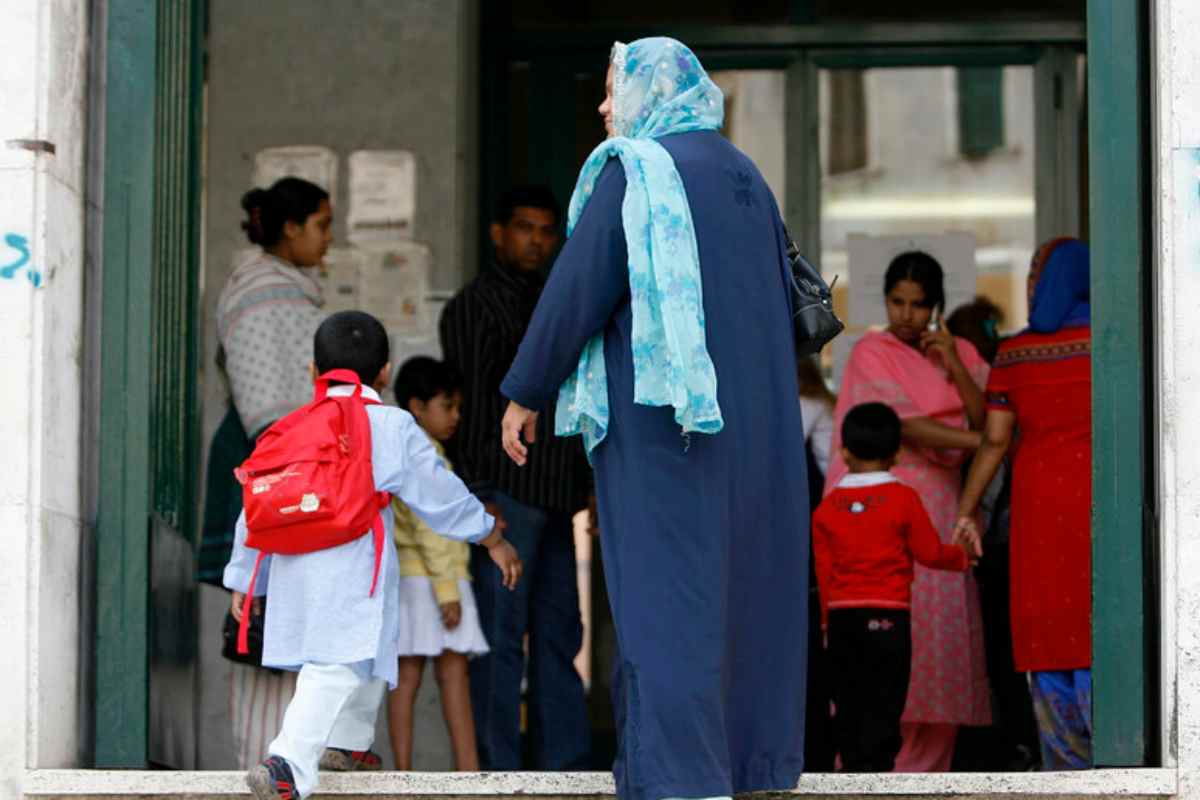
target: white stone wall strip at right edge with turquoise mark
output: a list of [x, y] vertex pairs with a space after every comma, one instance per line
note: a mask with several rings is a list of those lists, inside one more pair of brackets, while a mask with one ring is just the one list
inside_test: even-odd
[[1154, 249], [1165, 759], [1200, 796], [1200, 5], [1154, 4]]

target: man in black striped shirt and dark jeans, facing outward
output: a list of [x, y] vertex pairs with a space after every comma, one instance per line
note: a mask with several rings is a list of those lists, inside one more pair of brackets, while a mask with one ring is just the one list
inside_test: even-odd
[[[524, 336], [557, 251], [562, 213], [548, 188], [510, 190], [491, 225], [492, 258], [442, 314], [442, 351], [464, 377], [463, 411], [451, 443], [455, 468], [498, 506], [526, 565], [515, 591], [475, 561], [480, 622], [491, 652], [470, 667], [470, 694], [485, 770], [588, 766], [590, 732], [575, 656], [583, 640], [571, 517], [588, 500], [590, 470], [577, 437], [553, 435], [553, 409], [539, 420], [538, 447], [517, 467], [500, 446], [508, 402], [500, 381]], [[474, 558], [474, 554], [473, 554]], [[529, 636], [532, 764], [521, 758], [521, 682]]]

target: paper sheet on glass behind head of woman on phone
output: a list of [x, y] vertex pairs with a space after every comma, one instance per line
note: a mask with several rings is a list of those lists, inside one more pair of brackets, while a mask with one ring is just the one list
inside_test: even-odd
[[946, 313], [971, 302], [976, 295], [976, 240], [970, 233], [922, 236], [846, 237], [850, 271], [850, 326], [887, 325], [883, 276], [892, 259], [912, 249], [929, 253], [946, 275]]

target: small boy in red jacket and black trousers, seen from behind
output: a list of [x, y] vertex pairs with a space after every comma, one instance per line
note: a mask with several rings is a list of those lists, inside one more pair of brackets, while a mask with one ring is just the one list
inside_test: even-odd
[[978, 542], [943, 545], [920, 497], [888, 471], [900, 450], [890, 408], [852, 408], [841, 443], [850, 474], [812, 517], [838, 751], [845, 772], [890, 772], [912, 658], [912, 563], [962, 571]]

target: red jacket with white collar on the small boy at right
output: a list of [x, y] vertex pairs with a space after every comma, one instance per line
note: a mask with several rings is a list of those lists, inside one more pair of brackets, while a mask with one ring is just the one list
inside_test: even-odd
[[821, 620], [830, 608], [908, 608], [912, 563], [967, 569], [967, 553], [943, 545], [920, 497], [890, 473], [847, 475], [812, 516]]

